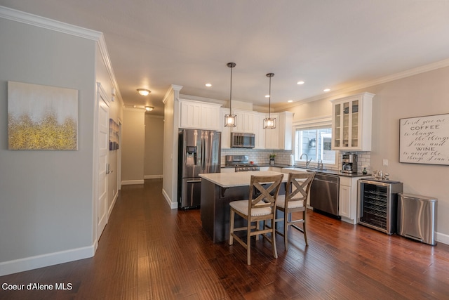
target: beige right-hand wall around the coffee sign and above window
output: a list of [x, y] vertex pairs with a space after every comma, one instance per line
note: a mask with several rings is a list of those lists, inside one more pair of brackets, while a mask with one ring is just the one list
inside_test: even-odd
[[[375, 93], [373, 98], [373, 148], [371, 170], [390, 174], [403, 182], [404, 193], [438, 198], [436, 239], [449, 244], [449, 166], [399, 163], [399, 119], [449, 113], [449, 67], [390, 81], [367, 89], [289, 107], [294, 121], [330, 116], [330, 99], [361, 92]], [[382, 160], [388, 159], [384, 167]]]

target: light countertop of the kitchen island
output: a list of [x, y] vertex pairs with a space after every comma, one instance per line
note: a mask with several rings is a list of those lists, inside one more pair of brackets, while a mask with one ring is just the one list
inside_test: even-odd
[[233, 188], [237, 186], [250, 185], [251, 175], [255, 176], [274, 176], [283, 174], [283, 182], [287, 182], [288, 174], [276, 171], [244, 171], [235, 173], [208, 173], [199, 174], [199, 176], [207, 181], [215, 183], [222, 188]]

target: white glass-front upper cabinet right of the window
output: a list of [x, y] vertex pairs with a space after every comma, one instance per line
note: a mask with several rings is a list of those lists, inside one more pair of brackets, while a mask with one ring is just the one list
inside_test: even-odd
[[332, 150], [371, 150], [373, 93], [331, 100], [333, 103]]

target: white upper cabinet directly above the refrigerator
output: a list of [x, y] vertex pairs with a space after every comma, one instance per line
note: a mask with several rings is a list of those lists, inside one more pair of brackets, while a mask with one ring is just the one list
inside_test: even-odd
[[215, 103], [180, 99], [180, 128], [221, 131], [220, 106]]

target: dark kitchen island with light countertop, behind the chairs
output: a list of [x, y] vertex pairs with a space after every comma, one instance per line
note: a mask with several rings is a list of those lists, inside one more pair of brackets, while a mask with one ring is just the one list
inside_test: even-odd
[[[245, 200], [249, 196], [251, 175], [274, 176], [283, 174], [276, 171], [245, 171], [236, 173], [199, 174], [201, 177], [201, 222], [203, 230], [213, 242], [223, 242], [229, 238], [229, 202]], [[287, 182], [288, 174], [283, 174]], [[281, 185], [279, 193], [285, 193]], [[236, 226], [239, 224], [236, 219]]]

